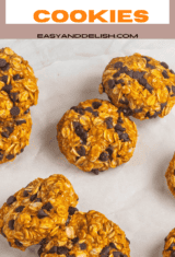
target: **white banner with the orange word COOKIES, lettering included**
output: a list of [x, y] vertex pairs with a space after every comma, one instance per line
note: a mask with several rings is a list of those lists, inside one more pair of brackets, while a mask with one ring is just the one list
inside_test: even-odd
[[5, 0], [7, 24], [170, 24], [170, 0]]

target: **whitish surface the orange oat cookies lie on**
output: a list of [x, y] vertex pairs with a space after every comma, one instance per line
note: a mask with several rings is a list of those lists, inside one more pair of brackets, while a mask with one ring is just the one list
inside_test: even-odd
[[[98, 94], [105, 66], [117, 56], [140, 52], [175, 70], [175, 40], [0, 40], [30, 61], [39, 101], [32, 107], [31, 143], [14, 162], [0, 165], [0, 207], [37, 177], [63, 174], [79, 195], [81, 211], [96, 210], [117, 223], [131, 242], [131, 257], [161, 257], [175, 226], [175, 199], [164, 174], [175, 150], [175, 107], [163, 119], [136, 120], [133, 157], [98, 176], [83, 173], [60, 153], [56, 126], [65, 112]], [[0, 257], [37, 257], [37, 246], [20, 252], [0, 236]]]

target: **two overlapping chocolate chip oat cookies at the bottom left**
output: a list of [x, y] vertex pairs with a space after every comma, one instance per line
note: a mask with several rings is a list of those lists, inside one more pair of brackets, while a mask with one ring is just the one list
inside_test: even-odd
[[78, 195], [63, 175], [37, 178], [0, 209], [0, 233], [25, 250], [39, 244], [40, 257], [130, 257], [129, 240], [97, 211], [78, 211]]

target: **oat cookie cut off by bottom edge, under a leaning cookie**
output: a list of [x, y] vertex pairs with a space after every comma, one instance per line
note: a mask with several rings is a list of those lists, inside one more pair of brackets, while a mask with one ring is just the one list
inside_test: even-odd
[[40, 257], [130, 257], [129, 241], [118, 225], [97, 211], [75, 212], [66, 229], [48, 238]]

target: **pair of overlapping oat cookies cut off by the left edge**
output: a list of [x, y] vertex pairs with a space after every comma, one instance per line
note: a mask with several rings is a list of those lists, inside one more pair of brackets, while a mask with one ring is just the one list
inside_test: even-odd
[[28, 144], [32, 118], [37, 104], [34, 71], [12, 49], [0, 49], [0, 164], [14, 160]]

